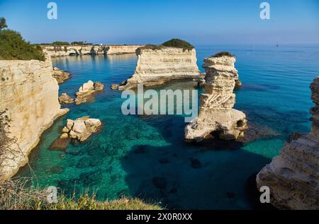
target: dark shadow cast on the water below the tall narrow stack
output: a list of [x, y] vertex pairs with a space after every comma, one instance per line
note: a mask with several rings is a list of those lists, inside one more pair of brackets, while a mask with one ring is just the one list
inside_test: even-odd
[[184, 143], [184, 119], [164, 119], [153, 124], [169, 146], [136, 145], [121, 160], [134, 196], [170, 209], [263, 208], [254, 203], [257, 190], [248, 181], [269, 158], [243, 151], [238, 144], [229, 150]]

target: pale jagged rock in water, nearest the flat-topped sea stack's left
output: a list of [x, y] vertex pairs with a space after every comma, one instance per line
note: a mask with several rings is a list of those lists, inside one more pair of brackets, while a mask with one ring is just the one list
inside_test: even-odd
[[76, 93], [77, 99], [75, 99], [75, 104], [80, 105], [84, 102], [89, 102], [92, 100], [93, 93], [96, 93], [97, 91], [103, 90], [104, 86], [100, 82], [92, 82], [88, 81], [87, 83], [84, 83], [83, 86], [79, 88], [79, 92]]

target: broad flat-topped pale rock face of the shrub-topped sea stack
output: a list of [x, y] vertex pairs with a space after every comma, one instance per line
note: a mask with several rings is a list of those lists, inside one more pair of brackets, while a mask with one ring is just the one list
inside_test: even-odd
[[200, 75], [196, 65], [196, 51], [176, 47], [138, 49], [135, 73], [120, 90], [144, 86], [158, 86], [174, 79], [196, 78]]

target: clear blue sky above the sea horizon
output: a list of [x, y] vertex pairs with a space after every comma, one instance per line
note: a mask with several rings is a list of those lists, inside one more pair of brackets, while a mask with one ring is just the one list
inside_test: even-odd
[[319, 43], [318, 0], [0, 0], [0, 17], [33, 43], [56, 40], [103, 44], [159, 44], [173, 37], [194, 45]]

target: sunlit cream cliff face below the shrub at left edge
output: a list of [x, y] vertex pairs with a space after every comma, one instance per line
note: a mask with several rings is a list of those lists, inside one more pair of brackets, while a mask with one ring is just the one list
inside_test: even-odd
[[16, 138], [13, 154], [4, 163], [5, 178], [14, 175], [28, 161], [28, 153], [40, 135], [58, 116], [60, 109], [57, 81], [52, 77], [52, 62], [0, 61], [0, 111], [11, 119], [10, 137]]

